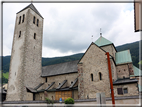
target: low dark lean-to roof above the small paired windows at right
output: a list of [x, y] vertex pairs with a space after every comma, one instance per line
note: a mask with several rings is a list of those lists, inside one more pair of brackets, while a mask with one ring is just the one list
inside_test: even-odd
[[137, 83], [137, 82], [138, 82], [137, 79], [125, 78], [125, 79], [118, 79], [118, 80], [114, 81], [113, 85], [129, 84], [129, 83]]

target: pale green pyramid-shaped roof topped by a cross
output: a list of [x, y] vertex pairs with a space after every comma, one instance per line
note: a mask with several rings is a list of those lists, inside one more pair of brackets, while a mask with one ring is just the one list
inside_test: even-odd
[[98, 46], [105, 46], [105, 45], [113, 44], [111, 41], [107, 40], [106, 38], [102, 36], [100, 36], [100, 38], [97, 39], [94, 43]]

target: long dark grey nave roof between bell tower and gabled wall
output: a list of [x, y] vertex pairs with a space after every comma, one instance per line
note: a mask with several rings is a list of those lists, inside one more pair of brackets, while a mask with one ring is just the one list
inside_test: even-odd
[[49, 77], [61, 74], [76, 73], [78, 72], [77, 63], [78, 60], [42, 67], [41, 76]]

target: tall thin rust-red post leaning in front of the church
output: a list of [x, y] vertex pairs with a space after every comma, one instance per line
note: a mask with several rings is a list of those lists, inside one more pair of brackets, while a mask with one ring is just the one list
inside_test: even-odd
[[112, 83], [112, 74], [111, 74], [111, 64], [110, 64], [110, 58], [109, 58], [109, 52], [106, 52], [107, 55], [107, 61], [108, 61], [108, 70], [109, 70], [109, 80], [110, 80], [110, 88], [111, 88], [111, 98], [112, 98], [112, 104], [113, 107], [115, 107], [115, 100], [114, 100], [114, 92], [113, 92], [113, 83]]

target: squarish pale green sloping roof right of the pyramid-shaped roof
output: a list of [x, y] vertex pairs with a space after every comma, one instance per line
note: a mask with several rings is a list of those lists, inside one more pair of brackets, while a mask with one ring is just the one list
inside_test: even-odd
[[129, 50], [116, 52], [115, 54], [116, 65], [132, 62], [131, 54]]

